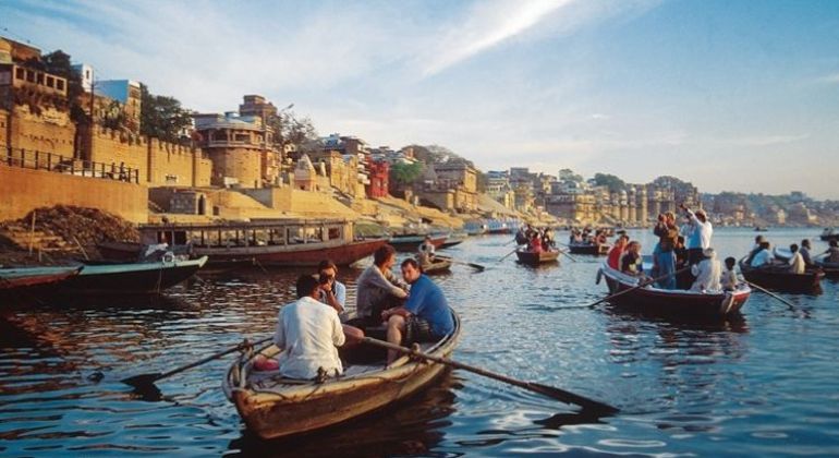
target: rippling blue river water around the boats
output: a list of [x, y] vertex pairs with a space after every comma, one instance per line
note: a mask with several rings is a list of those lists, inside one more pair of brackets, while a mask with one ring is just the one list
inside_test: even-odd
[[[650, 234], [631, 234], [649, 251]], [[765, 236], [785, 245], [814, 232]], [[722, 257], [740, 256], [753, 238], [719, 229], [714, 244]], [[157, 396], [119, 382], [268, 336], [300, 273], [248, 269], [200, 273], [160, 298], [0, 309], [0, 455], [839, 456], [836, 281], [825, 280], [819, 296], [783, 294], [794, 308], [755, 292], [741, 317], [674, 322], [609, 304], [580, 308], [606, 294], [594, 284], [601, 258], [499, 263], [509, 239], [472, 238], [449, 250], [486, 272], [455, 266], [436, 277], [463, 322], [454, 358], [620, 413], [591, 418], [453, 371], [394, 409], [265, 442], [245, 431], [221, 393], [230, 359], [159, 382]], [[339, 273], [351, 292], [360, 273]]]

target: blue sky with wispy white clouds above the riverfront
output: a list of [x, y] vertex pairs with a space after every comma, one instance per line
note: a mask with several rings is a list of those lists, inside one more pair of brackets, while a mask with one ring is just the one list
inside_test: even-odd
[[701, 192], [839, 198], [839, 1], [0, 1], [0, 35], [203, 112]]

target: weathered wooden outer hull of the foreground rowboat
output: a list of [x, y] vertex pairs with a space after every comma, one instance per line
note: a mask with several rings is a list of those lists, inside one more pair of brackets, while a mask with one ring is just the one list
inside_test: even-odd
[[[458, 343], [455, 332], [428, 353], [448, 358]], [[243, 372], [242, 359], [228, 371], [224, 389], [248, 430], [262, 438], [287, 437], [332, 426], [409, 398], [435, 382], [447, 366], [427, 361], [373, 372], [358, 377], [303, 383], [297, 388], [271, 391], [235, 388]]]

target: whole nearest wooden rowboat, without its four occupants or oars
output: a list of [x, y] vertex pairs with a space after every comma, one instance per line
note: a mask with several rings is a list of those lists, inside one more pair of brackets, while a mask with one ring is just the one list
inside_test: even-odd
[[[421, 348], [436, 357], [449, 357], [460, 332], [460, 320], [454, 314], [454, 333]], [[367, 349], [361, 346], [353, 351]], [[270, 355], [279, 350], [269, 347], [267, 351]], [[352, 354], [344, 353], [342, 359], [349, 361], [343, 375], [318, 383], [282, 378], [276, 371], [254, 371], [255, 355], [240, 355], [227, 372], [222, 388], [247, 429], [263, 438], [311, 432], [390, 407], [429, 386], [447, 369], [408, 357], [385, 366], [384, 351], [372, 363], [354, 363]]]

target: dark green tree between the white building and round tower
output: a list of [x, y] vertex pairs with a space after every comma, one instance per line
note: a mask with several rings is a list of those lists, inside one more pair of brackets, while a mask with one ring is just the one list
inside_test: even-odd
[[145, 84], [139, 85], [139, 133], [165, 142], [179, 142], [180, 134], [192, 124], [190, 111], [174, 97], [156, 96]]

